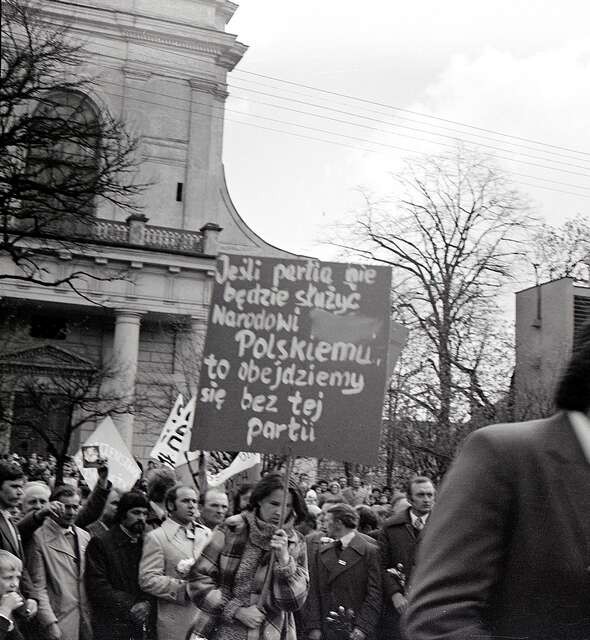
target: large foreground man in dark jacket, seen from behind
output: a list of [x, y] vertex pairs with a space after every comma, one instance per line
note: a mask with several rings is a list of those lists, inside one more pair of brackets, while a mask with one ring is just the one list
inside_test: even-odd
[[590, 323], [555, 404], [465, 441], [418, 552], [411, 640], [590, 638]]

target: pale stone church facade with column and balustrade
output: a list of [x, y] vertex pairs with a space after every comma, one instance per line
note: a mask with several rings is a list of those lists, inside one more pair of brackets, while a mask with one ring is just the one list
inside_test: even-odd
[[[133, 454], [145, 460], [177, 393], [194, 393], [216, 255], [288, 255], [249, 229], [225, 182], [227, 74], [246, 51], [227, 31], [237, 5], [41, 0], [40, 8], [45, 20], [67, 25], [84, 43], [88, 73], [97, 77], [89, 104], [98, 117], [108, 109], [140, 137], [138, 179], [149, 186], [140, 196], [141, 213], [100, 203], [84, 242], [46, 258], [55, 277], [75, 270], [97, 276], [85, 281], [82, 295], [66, 285], [0, 280], [0, 370], [13, 381], [0, 389], [10, 416], [0, 427], [0, 452], [45, 449], [26, 420], [19, 424], [31, 410], [30, 390], [19, 380], [41, 380], [51, 398], [60, 380], [101, 371], [93, 385], [129, 399], [112, 417]], [[1, 261], [2, 270], [15, 268]], [[81, 425], [70, 451], [98, 421], [92, 412], [85, 420], [84, 402], [75, 415], [46, 406], [56, 434], [64, 421]]]

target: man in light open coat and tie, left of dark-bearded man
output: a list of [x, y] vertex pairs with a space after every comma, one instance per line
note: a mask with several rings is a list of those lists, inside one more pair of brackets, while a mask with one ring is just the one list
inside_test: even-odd
[[90, 535], [74, 524], [80, 510], [80, 494], [73, 487], [62, 485], [51, 499], [61, 502], [63, 511], [55, 519], [46, 518], [35, 531], [28, 558], [39, 597], [41, 637], [92, 640], [84, 589], [84, 556]]

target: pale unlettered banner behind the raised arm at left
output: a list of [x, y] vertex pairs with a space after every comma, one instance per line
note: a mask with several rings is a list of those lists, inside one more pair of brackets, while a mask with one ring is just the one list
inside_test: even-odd
[[[109, 465], [109, 480], [121, 491], [129, 491], [141, 476], [141, 469], [127, 449], [115, 423], [106, 417], [96, 427], [94, 433], [84, 442], [85, 447], [98, 447], [101, 458], [106, 458]], [[98, 481], [96, 469], [84, 467], [82, 448], [74, 456], [74, 460], [86, 484], [94, 488]]]

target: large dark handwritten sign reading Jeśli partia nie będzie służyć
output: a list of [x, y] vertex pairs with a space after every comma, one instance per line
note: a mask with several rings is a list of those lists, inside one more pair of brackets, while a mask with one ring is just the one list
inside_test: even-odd
[[191, 449], [373, 464], [390, 289], [388, 267], [220, 255]]

